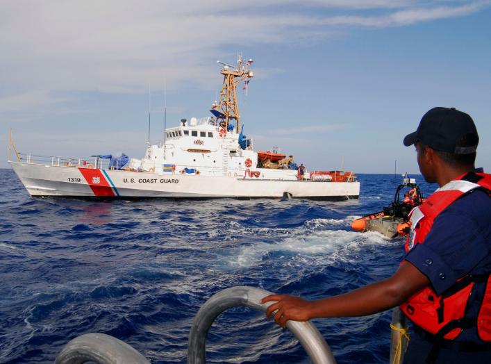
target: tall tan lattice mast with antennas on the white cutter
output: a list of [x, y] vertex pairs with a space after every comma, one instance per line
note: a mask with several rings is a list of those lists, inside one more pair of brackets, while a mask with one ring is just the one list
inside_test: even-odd
[[253, 63], [253, 60], [249, 59], [244, 62], [242, 55], [238, 56], [237, 67], [217, 61], [223, 66], [221, 74], [224, 75], [224, 82], [222, 83], [222, 91], [220, 92], [220, 101], [215, 101], [212, 104], [210, 112], [215, 115], [217, 122], [226, 131], [228, 126], [232, 124], [232, 120], [235, 120], [235, 132], [240, 133], [240, 113], [239, 104], [237, 101], [237, 85], [244, 81], [244, 88], [247, 89], [247, 84], [250, 78], [253, 78], [253, 73], [249, 69], [249, 66]]

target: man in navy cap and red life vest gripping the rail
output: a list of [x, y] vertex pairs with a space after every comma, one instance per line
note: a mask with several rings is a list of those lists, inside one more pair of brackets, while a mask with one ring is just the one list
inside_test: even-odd
[[413, 209], [406, 256], [390, 278], [316, 301], [270, 295], [267, 316], [363, 316], [400, 306], [413, 323], [404, 363], [491, 362], [491, 174], [474, 168], [478, 133], [455, 108], [433, 108], [415, 145], [424, 179], [440, 188]]

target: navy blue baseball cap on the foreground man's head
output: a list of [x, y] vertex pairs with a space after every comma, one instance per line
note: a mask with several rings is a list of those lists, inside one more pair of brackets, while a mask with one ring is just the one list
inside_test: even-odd
[[[457, 143], [470, 135], [475, 145], [458, 147]], [[432, 108], [424, 114], [414, 133], [406, 135], [404, 145], [422, 142], [437, 151], [451, 154], [471, 154], [477, 150], [479, 136], [472, 117], [456, 108]], [[471, 143], [474, 144], [474, 143]]]

